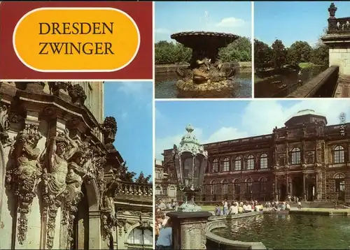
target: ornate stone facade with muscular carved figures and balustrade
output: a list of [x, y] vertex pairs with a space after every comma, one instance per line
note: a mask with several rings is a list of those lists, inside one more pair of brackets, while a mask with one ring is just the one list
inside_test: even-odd
[[152, 186], [125, 179], [103, 89], [0, 83], [0, 249], [152, 248]]

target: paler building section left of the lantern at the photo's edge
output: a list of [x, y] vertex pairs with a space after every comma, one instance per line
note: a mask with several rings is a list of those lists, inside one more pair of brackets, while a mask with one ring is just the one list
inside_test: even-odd
[[176, 180], [174, 172], [165, 170], [162, 161], [155, 160], [155, 200], [162, 199], [164, 203], [176, 201]]

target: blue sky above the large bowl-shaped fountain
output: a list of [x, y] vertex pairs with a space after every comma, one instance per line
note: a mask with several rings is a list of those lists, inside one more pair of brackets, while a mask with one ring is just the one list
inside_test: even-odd
[[155, 2], [155, 42], [181, 31], [228, 32], [251, 36], [251, 2]]

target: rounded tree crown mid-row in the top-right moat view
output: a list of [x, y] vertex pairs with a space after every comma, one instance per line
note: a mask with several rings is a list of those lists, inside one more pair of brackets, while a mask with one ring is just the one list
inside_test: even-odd
[[287, 50], [287, 63], [293, 66], [301, 62], [309, 62], [312, 47], [304, 41], [296, 41]]

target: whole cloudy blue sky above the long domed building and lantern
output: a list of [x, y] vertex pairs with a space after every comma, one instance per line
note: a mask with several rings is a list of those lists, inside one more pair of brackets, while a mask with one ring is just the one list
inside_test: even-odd
[[328, 124], [340, 124], [345, 113], [350, 122], [350, 102], [345, 99], [255, 100], [255, 101], [156, 101], [155, 156], [162, 160], [164, 149], [179, 145], [191, 124], [201, 143], [245, 138], [272, 133], [290, 117], [304, 109], [325, 115]]

